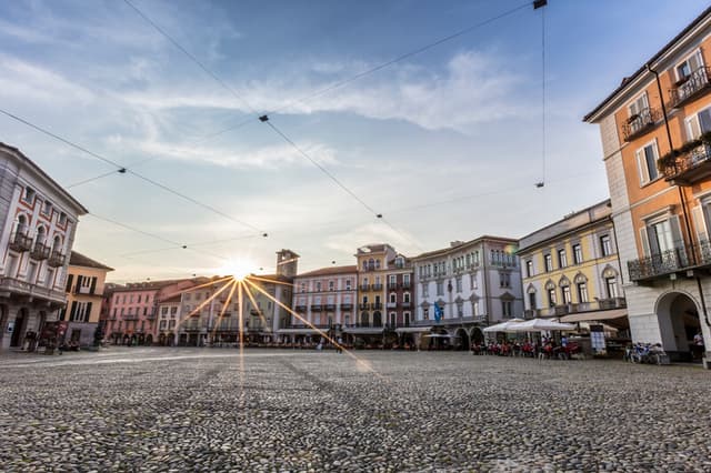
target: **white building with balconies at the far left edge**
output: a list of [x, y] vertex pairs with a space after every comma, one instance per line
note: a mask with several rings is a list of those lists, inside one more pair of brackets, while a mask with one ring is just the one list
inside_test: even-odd
[[0, 349], [54, 343], [69, 253], [88, 211], [17, 148], [0, 143]]

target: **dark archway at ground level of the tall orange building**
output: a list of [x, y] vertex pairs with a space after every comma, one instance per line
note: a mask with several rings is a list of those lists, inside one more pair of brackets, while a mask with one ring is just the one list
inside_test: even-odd
[[668, 292], [657, 301], [659, 334], [664, 351], [672, 360], [700, 360], [693, 338], [701, 332], [697, 302], [683, 292]]

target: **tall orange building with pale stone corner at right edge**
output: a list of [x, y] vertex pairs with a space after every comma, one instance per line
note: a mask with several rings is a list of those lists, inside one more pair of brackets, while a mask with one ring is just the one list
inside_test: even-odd
[[711, 8], [584, 117], [602, 135], [632, 338], [681, 360], [711, 345], [707, 62]]

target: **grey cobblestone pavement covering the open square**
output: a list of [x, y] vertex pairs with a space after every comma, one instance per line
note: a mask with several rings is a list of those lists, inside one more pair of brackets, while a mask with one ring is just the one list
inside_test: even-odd
[[0, 470], [711, 471], [699, 368], [357, 355], [3, 353]]

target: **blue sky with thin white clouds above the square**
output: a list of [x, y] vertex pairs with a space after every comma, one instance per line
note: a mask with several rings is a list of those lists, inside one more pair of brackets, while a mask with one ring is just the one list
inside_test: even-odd
[[[352, 264], [372, 242], [414, 255], [519, 238], [603, 200], [599, 132], [581, 118], [707, 7], [550, 0], [543, 160], [532, 7], [282, 109], [522, 1], [131, 1], [239, 98], [122, 1], [0, 3], [2, 108], [233, 217], [130, 174], [72, 187], [92, 213], [170, 241], [233, 239], [171, 249], [87, 215], [74, 249], [116, 281], [224, 272], [224, 258], [270, 271], [281, 248], [302, 270]], [[272, 123], [390, 225], [254, 118], [276, 109]], [[112, 170], [7, 117], [0, 141], [66, 185]]]

